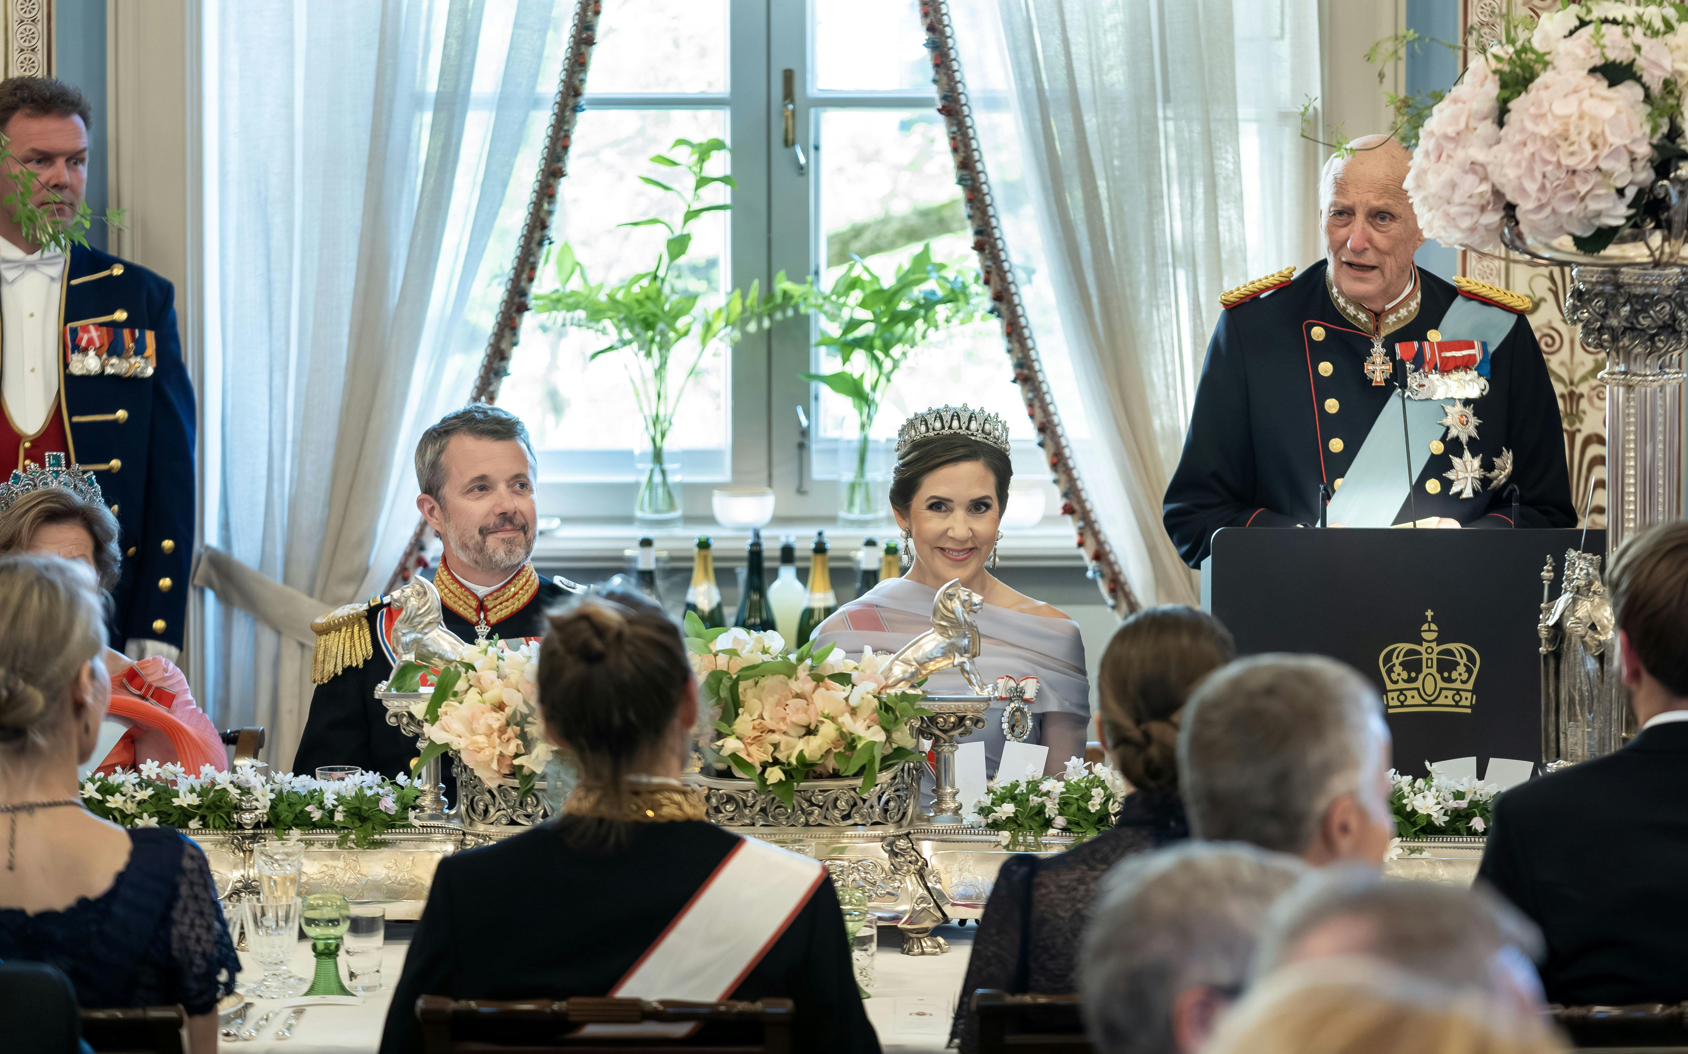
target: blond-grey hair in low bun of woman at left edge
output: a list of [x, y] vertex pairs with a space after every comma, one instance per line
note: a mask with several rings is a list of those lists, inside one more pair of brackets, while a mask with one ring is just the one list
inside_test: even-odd
[[103, 653], [105, 636], [88, 567], [29, 553], [0, 557], [0, 764], [57, 742], [71, 723], [71, 690]]

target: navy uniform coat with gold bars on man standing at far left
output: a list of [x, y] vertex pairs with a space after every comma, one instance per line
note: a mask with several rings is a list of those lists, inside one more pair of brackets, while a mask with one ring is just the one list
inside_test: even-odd
[[[61, 452], [95, 474], [122, 535], [110, 641], [182, 646], [194, 551], [194, 390], [169, 282], [71, 246], [59, 315], [59, 395], [32, 435], [0, 425], [3, 474]], [[3, 349], [0, 349], [3, 352]]]

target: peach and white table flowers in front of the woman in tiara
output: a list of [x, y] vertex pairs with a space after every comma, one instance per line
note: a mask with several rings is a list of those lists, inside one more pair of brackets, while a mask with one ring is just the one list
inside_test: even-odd
[[803, 779], [861, 774], [866, 793], [883, 767], [920, 759], [923, 693], [885, 691], [888, 654], [866, 649], [852, 661], [832, 644], [787, 654], [776, 632], [704, 629], [695, 614], [685, 616], [685, 646], [706, 764], [756, 781], [785, 804]]

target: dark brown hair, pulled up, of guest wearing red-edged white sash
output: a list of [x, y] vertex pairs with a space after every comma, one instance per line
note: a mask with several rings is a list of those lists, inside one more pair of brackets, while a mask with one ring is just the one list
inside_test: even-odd
[[586, 597], [549, 617], [538, 651], [545, 730], [611, 803], [621, 777], [674, 732], [692, 681], [679, 627], [631, 594]]

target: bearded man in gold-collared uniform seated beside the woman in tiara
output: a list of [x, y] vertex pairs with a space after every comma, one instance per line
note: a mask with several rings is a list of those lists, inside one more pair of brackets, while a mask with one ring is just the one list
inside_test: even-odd
[[[527, 427], [508, 410], [469, 403], [422, 433], [415, 462], [417, 508], [444, 545], [434, 589], [446, 629], [463, 641], [544, 636], [545, 610], [584, 589], [567, 578], [547, 582], [533, 570], [537, 460]], [[326, 671], [311, 696], [294, 772], [311, 776], [319, 766], [358, 766], [390, 777], [408, 772], [417, 740], [388, 725], [375, 698], [375, 686], [393, 673], [395, 614], [376, 597], [312, 624], [319, 653], [343, 654], [327, 641], [366, 621], [373, 654]]]

